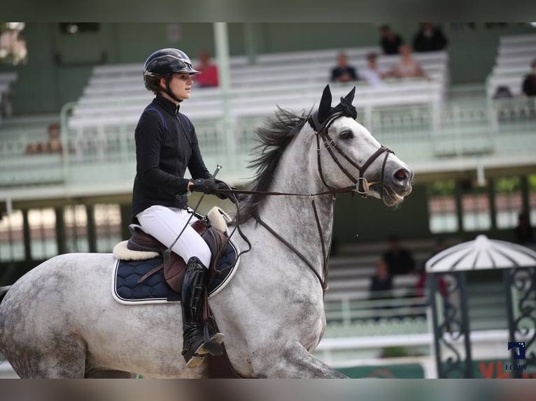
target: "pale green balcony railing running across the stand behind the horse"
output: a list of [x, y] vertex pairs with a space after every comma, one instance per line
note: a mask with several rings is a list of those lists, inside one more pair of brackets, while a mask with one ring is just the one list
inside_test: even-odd
[[[346, 89], [337, 91], [345, 92]], [[80, 182], [77, 174], [87, 175], [92, 167], [102, 170], [107, 165], [108, 168], [121, 165], [121, 168], [134, 172], [134, 127], [138, 116], [132, 121], [115, 119], [111, 125], [70, 126], [70, 116], [77, 105], [71, 103], [62, 111], [62, 140], [69, 152], [57, 163], [62, 164], [64, 183]], [[91, 122], [96, 117], [84, 118]], [[227, 180], [250, 177], [251, 172], [246, 170], [247, 161], [251, 160], [251, 150], [256, 145], [255, 131], [265, 124], [265, 119], [265, 115], [235, 117], [224, 124], [219, 118], [192, 118], [207, 165], [223, 164]], [[437, 168], [444, 168], [450, 160], [458, 160], [456, 158], [486, 155], [493, 156], [490, 159], [493, 163], [507, 163], [507, 160], [516, 163], [526, 160], [528, 163], [536, 152], [536, 99], [493, 101], [482, 98], [369, 108], [358, 104], [358, 122], [416, 168], [423, 163], [428, 163], [427, 166], [435, 163]], [[8, 181], [6, 176], [16, 176], [20, 170], [28, 170], [25, 174], [31, 175], [35, 163], [31, 156], [21, 157], [27, 143], [27, 138], [0, 141], [2, 163], [6, 164], [0, 170], [4, 182]], [[36, 184], [41, 183], [42, 170], [38, 167], [33, 170], [38, 173], [35, 174]], [[132, 178], [125, 175], [125, 187]], [[111, 179], [110, 175], [99, 177], [103, 184], [113, 184], [109, 182]]]

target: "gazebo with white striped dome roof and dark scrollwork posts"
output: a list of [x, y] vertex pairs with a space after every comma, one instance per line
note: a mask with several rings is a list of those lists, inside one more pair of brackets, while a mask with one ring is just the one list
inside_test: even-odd
[[[435, 342], [437, 376], [474, 377], [472, 369], [469, 310], [467, 308], [467, 271], [502, 269], [507, 300], [509, 342], [526, 340], [528, 347], [536, 338], [536, 252], [527, 247], [479, 235], [473, 241], [463, 242], [432, 256], [425, 265], [430, 291], [430, 307]], [[440, 289], [439, 281], [447, 279], [449, 285]], [[456, 300], [453, 298], [456, 294]], [[457, 301], [457, 302], [456, 302]], [[463, 340], [465, 358], [453, 342]], [[505, 344], [507, 347], [508, 344]], [[536, 344], [535, 344], [536, 345]], [[442, 359], [442, 349], [451, 356]], [[536, 367], [534, 352], [523, 356], [523, 364]], [[520, 364], [519, 353], [512, 349], [512, 363]], [[514, 377], [521, 371], [513, 370]]]

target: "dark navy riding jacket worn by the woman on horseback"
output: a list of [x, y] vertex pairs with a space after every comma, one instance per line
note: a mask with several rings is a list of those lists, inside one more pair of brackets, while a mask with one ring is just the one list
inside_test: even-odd
[[[194, 126], [179, 106], [158, 94], [139, 118], [136, 131], [136, 177], [132, 220], [153, 205], [185, 208], [188, 178], [208, 178]], [[178, 196], [176, 196], [178, 195]]]

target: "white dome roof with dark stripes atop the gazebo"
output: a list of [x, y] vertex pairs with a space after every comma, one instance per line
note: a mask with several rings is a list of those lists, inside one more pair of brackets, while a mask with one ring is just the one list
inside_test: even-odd
[[486, 235], [447, 248], [426, 262], [426, 271], [432, 273], [521, 267], [536, 267], [535, 251]]

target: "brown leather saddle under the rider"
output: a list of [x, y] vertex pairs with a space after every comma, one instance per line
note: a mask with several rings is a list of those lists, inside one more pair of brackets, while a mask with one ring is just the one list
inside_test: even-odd
[[[204, 220], [194, 221], [192, 224], [190, 224], [190, 226], [192, 226], [192, 228], [194, 228], [194, 230], [201, 235], [211, 250], [211, 263], [210, 266], [208, 266], [208, 284], [217, 274], [217, 269], [220, 266], [221, 256], [227, 247], [228, 239], [224, 233], [216, 230], [216, 228], [213, 228]], [[167, 247], [154, 238], [153, 235], [143, 231], [141, 226], [138, 226], [137, 224], [130, 224], [129, 231], [132, 236], [127, 242], [128, 249], [132, 251], [153, 251], [164, 256], [164, 251], [166, 251]], [[145, 280], [147, 277], [150, 277], [150, 275], [153, 275], [155, 272], [161, 269], [164, 269], [164, 278], [171, 289], [181, 293], [184, 274], [186, 271], [186, 261], [184, 261], [181, 256], [178, 256], [174, 252], [169, 254], [169, 259], [164, 256], [164, 262], [153, 270], [147, 272], [146, 275], [138, 280], [138, 282], [143, 282], [143, 280]]]

